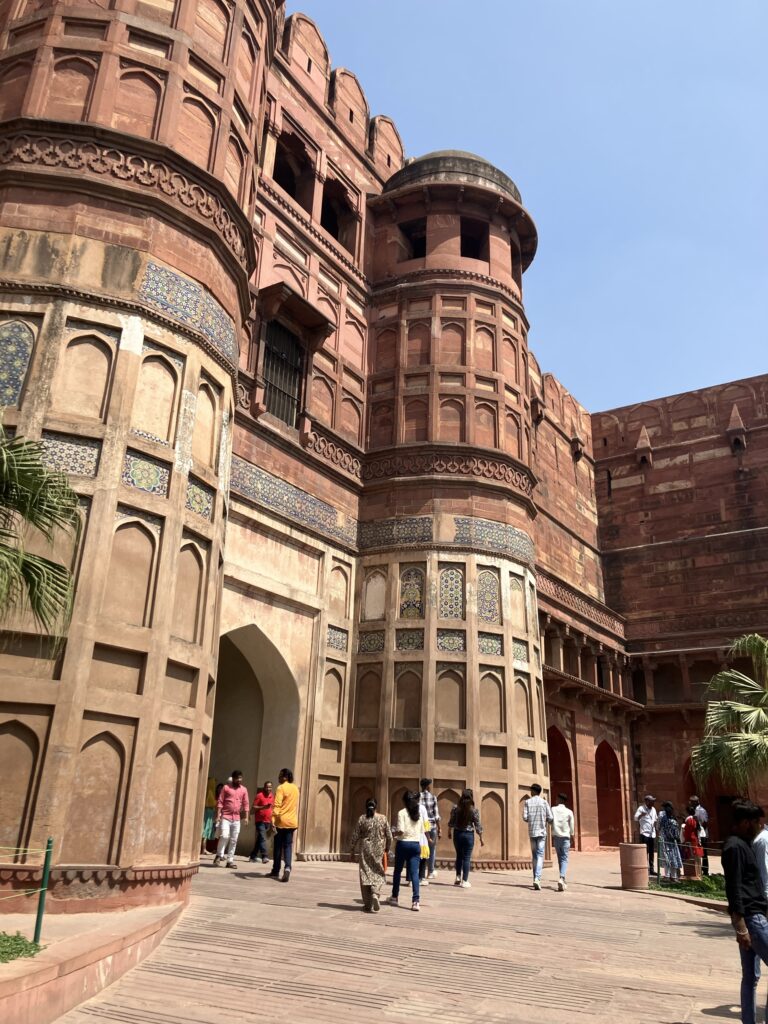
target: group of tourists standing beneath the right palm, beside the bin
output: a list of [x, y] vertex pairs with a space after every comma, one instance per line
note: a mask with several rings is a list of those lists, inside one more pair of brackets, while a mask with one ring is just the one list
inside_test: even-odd
[[[683, 816], [682, 827], [669, 800], [656, 811], [656, 798], [648, 794], [635, 811], [635, 821], [640, 831], [640, 841], [648, 850], [648, 873], [668, 882], [677, 883], [686, 865], [686, 873], [700, 879], [710, 873], [707, 855], [707, 830], [710, 816], [701, 806], [698, 797], [690, 797]], [[655, 853], [658, 844], [658, 869]]]

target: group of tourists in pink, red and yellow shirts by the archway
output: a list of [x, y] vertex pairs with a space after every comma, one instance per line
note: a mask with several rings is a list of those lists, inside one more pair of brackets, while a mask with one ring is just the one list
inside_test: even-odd
[[[210, 782], [215, 786], [211, 794]], [[268, 863], [267, 837], [273, 837], [272, 869], [270, 878], [281, 882], [291, 881], [293, 867], [293, 841], [299, 826], [299, 787], [294, 783], [293, 771], [283, 768], [278, 778], [278, 788], [272, 793], [271, 781], [266, 781], [257, 792], [253, 804], [243, 784], [243, 772], [233, 771], [226, 782], [219, 785], [209, 781], [206, 814], [203, 822], [203, 842], [216, 838], [214, 866], [234, 867], [234, 852], [240, 829], [249, 814], [256, 825], [256, 845], [250, 861]], [[212, 805], [212, 806], [211, 806]], [[281, 874], [281, 868], [283, 873]]]

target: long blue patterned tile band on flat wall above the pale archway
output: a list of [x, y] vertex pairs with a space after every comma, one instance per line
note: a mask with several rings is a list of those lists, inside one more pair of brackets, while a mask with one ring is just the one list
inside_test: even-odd
[[231, 489], [244, 498], [263, 505], [289, 519], [314, 527], [334, 540], [354, 546], [357, 520], [344, 515], [292, 483], [279, 480], [263, 469], [252, 466], [238, 456], [232, 457]]

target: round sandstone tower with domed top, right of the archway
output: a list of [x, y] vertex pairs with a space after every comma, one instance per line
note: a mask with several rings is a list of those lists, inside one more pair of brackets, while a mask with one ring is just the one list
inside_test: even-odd
[[521, 301], [536, 228], [468, 153], [408, 162], [370, 209], [349, 806], [373, 793], [394, 815], [425, 771], [443, 814], [474, 791], [476, 856], [520, 865], [520, 800], [548, 790]]

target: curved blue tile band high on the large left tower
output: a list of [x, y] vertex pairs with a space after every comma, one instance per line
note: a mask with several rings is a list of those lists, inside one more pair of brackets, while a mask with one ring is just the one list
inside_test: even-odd
[[197, 282], [150, 260], [139, 295], [168, 316], [200, 331], [232, 369], [237, 367], [238, 341], [231, 318]]

